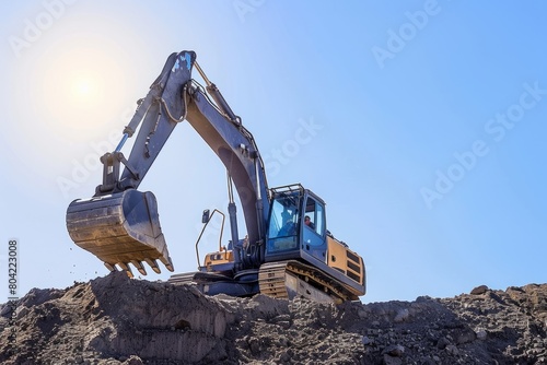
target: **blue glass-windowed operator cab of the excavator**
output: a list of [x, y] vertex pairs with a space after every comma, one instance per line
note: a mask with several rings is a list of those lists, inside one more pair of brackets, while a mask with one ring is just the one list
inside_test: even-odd
[[325, 202], [301, 185], [271, 189], [266, 261], [305, 257], [326, 262]]

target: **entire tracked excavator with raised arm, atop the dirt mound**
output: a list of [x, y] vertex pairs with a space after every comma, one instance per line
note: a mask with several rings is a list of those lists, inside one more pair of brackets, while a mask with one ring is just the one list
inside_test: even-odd
[[[191, 78], [197, 70], [206, 86]], [[173, 260], [160, 225], [158, 202], [137, 190], [174, 128], [188, 122], [226, 168], [231, 239], [199, 260], [198, 270], [172, 274], [168, 282], [195, 285], [206, 295], [276, 298], [303, 296], [317, 302], [358, 301], [365, 294], [363, 259], [327, 229], [325, 202], [300, 184], [269, 188], [253, 134], [228, 105], [196, 61], [194, 51], [174, 52], [125, 127], [119, 144], [101, 157], [103, 182], [89, 199], [67, 209], [67, 229], [79, 247], [109, 271], [142, 275], [147, 266], [173, 272]], [[121, 148], [135, 133], [126, 158]], [[120, 172], [121, 165], [124, 169]], [[246, 235], [238, 233], [234, 187]], [[202, 229], [214, 209], [202, 212]], [[218, 220], [218, 219], [217, 219]], [[222, 232], [220, 234], [222, 237]]]

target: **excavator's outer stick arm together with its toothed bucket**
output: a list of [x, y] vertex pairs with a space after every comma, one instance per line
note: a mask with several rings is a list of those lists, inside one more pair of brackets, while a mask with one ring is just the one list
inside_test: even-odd
[[[170, 271], [173, 262], [162, 234], [158, 203], [152, 192], [136, 190], [176, 125], [186, 116], [186, 89], [196, 55], [172, 54], [150, 86], [113, 153], [101, 157], [103, 184], [91, 199], [74, 200], [67, 210], [67, 228], [72, 240], [92, 252], [110, 270], [116, 266], [132, 276], [129, 263], [147, 274], [160, 260]], [[140, 127], [129, 158], [120, 151], [127, 138]], [[124, 172], [120, 176], [120, 164]]]

